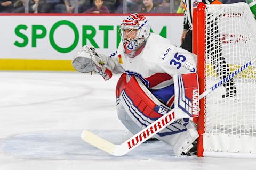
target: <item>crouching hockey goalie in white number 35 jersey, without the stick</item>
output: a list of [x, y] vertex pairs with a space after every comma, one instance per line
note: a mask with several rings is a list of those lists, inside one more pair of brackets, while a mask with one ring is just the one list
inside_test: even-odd
[[[198, 98], [193, 98], [198, 94], [197, 56], [150, 33], [141, 14], [124, 19], [119, 33], [122, 41], [115, 53], [105, 56], [85, 45], [72, 64], [79, 72], [95, 71], [105, 80], [122, 73], [116, 87], [117, 115], [127, 130], [136, 134], [171, 109], [192, 115], [193, 105], [198, 106]], [[176, 120], [154, 137], [177, 156], [196, 154], [198, 133], [191, 118]]]

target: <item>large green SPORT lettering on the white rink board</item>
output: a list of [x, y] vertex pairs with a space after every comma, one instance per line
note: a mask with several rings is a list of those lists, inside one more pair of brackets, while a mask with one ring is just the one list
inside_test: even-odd
[[[66, 25], [71, 30], [74, 32], [74, 41], [72, 44], [70, 44], [68, 47], [60, 47], [57, 43], [56, 40], [54, 39], [54, 33], [57, 31], [57, 28], [61, 27], [62, 25]], [[31, 35], [31, 47], [36, 48], [37, 47], [37, 41], [39, 39], [47, 38], [47, 29], [44, 25], [31, 25], [31, 33], [26, 32], [28, 29], [27, 25], [18, 25], [14, 32], [15, 35], [19, 38], [21, 38], [21, 41], [16, 40], [14, 42], [14, 45], [17, 47], [26, 47], [29, 43], [29, 38], [27, 35]], [[116, 48], [118, 47], [121, 37], [118, 33], [119, 26], [116, 26], [116, 32], [115, 32], [115, 39], [116, 39]], [[21, 32], [22, 31], [22, 32]], [[26, 33], [24, 33], [24, 31]], [[114, 26], [113, 25], [99, 25], [98, 29], [95, 28], [93, 25], [82, 25], [82, 35], [79, 35], [79, 30], [76, 27], [76, 25], [73, 22], [67, 21], [67, 20], [61, 20], [56, 22], [55, 24], [52, 25], [51, 29], [49, 31], [49, 41], [51, 46], [57, 50], [60, 53], [69, 53], [72, 50], [74, 50], [79, 42], [79, 38], [82, 38], [82, 46], [86, 45], [87, 43], [91, 43], [92, 46], [95, 48], [100, 48], [99, 45], [97, 44], [97, 41], [95, 41], [95, 36], [97, 35], [98, 32], [102, 31], [103, 32], [103, 48], [108, 48], [109, 47], [109, 35], [111, 31], [114, 31]], [[166, 38], [166, 26], [163, 26], [162, 30], [160, 31], [159, 35], [162, 37]], [[38, 33], [39, 32], [39, 33]], [[153, 32], [151, 29], [150, 32]], [[64, 35], [65, 36], [65, 35]], [[113, 37], [111, 37], [113, 38]], [[81, 46], [81, 47], [82, 47]]]

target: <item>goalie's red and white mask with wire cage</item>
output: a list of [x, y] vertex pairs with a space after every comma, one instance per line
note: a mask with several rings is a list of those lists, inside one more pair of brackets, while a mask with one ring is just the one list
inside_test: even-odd
[[150, 33], [146, 16], [137, 13], [131, 14], [122, 21], [119, 33], [126, 54], [138, 49], [148, 39]]

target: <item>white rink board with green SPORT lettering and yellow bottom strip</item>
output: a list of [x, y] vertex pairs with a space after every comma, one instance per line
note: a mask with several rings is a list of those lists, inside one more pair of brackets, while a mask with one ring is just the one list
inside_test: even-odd
[[[73, 69], [70, 60], [86, 44], [94, 46], [102, 54], [110, 55], [121, 41], [118, 30], [125, 18], [82, 15], [0, 16], [0, 23], [4, 23], [0, 28], [0, 70], [70, 70]], [[169, 39], [172, 44], [180, 45], [182, 16], [147, 18], [151, 32]], [[13, 59], [17, 65], [14, 65]], [[53, 60], [55, 63], [52, 63]], [[62, 64], [56, 61], [62, 61]], [[46, 66], [43, 66], [44, 63]], [[55, 68], [57, 65], [58, 69]], [[64, 65], [68, 68], [64, 68]]]

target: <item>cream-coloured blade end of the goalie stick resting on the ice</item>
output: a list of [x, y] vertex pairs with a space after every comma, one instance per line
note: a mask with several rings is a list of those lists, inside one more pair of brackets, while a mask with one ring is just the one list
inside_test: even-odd
[[116, 148], [116, 145], [114, 145], [113, 143], [110, 143], [109, 141], [105, 140], [105, 139], [102, 139], [100, 137], [98, 137], [97, 135], [87, 131], [87, 130], [84, 130], [81, 134], [81, 138], [89, 143], [90, 145], [100, 149], [100, 150], [103, 150], [111, 155], [115, 155], [117, 156], [115, 153], [114, 153], [114, 150]]

